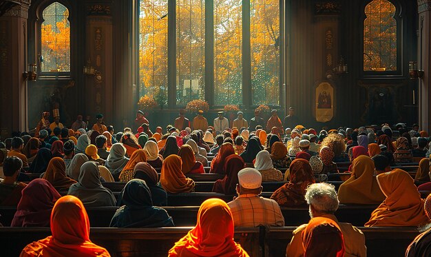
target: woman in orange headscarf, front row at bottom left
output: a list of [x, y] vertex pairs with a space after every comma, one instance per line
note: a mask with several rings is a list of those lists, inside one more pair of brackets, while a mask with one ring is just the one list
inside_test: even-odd
[[63, 196], [55, 203], [51, 232], [52, 236], [24, 247], [20, 256], [110, 256], [90, 240], [90, 220], [75, 196]]

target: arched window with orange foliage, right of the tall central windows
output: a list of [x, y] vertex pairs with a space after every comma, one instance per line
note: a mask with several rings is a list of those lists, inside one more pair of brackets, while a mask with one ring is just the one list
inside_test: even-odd
[[364, 72], [397, 71], [396, 12], [386, 0], [373, 0], [365, 7]]

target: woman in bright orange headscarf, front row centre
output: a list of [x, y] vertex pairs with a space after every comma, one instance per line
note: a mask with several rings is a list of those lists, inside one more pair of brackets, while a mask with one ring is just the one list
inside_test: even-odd
[[174, 256], [229, 256], [249, 254], [233, 240], [233, 217], [227, 203], [211, 198], [200, 205], [196, 227], [169, 250]]

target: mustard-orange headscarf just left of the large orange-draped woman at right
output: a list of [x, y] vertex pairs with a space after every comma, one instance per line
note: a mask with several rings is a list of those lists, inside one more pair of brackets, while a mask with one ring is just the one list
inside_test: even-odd
[[370, 205], [381, 203], [385, 196], [381, 192], [374, 174], [374, 161], [369, 156], [361, 155], [352, 163], [352, 174], [338, 189], [340, 203]]

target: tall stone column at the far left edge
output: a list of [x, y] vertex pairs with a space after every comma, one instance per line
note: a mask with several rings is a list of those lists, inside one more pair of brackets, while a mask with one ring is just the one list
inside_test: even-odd
[[30, 0], [21, 0], [0, 17], [0, 135], [4, 140], [12, 131], [28, 130], [27, 19]]

